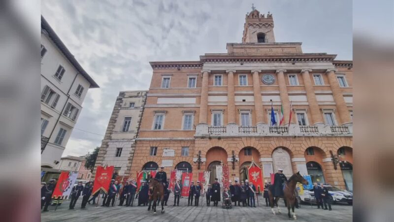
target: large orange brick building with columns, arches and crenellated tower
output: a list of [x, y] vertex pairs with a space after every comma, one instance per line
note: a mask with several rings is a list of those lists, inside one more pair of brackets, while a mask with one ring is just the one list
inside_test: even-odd
[[164, 165], [197, 180], [197, 172], [228, 164], [230, 180], [244, 180], [253, 160], [264, 180], [284, 168], [352, 190], [353, 62], [276, 42], [272, 14], [253, 10], [245, 19], [242, 43], [227, 43], [228, 53], [150, 63], [131, 177]]

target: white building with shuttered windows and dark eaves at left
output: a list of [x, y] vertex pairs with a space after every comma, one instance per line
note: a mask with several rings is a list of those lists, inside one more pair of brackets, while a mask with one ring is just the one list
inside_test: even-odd
[[41, 167], [58, 168], [90, 88], [99, 85], [41, 16]]

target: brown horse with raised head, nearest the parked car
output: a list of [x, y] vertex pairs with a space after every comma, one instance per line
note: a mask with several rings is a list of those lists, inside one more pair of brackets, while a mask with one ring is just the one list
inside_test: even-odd
[[[295, 192], [296, 192], [297, 182], [301, 183], [303, 185], [308, 185], [308, 181], [306, 181], [299, 174], [299, 171], [298, 171], [297, 173], [293, 174], [293, 176], [291, 176], [290, 179], [285, 183], [285, 188], [283, 189], [284, 196], [282, 197], [285, 200], [285, 205], [288, 210], [289, 219], [292, 219], [292, 214], [290, 213], [290, 208], [292, 208], [294, 220], [297, 220], [296, 213], [294, 213], [294, 206], [296, 204]], [[275, 197], [275, 200], [274, 200], [274, 197], [271, 192], [271, 188], [272, 188], [272, 185], [270, 188], [268, 188], [269, 205], [271, 206], [272, 213], [275, 215], [274, 205], [278, 206], [278, 200], [280, 197]], [[279, 206], [278, 206], [278, 213], [280, 213]]]

